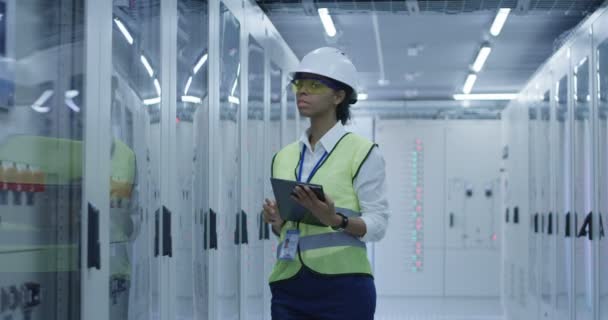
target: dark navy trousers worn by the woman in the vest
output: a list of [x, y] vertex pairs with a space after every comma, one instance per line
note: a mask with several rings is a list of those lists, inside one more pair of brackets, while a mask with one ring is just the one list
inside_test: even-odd
[[376, 287], [369, 276], [323, 276], [306, 267], [270, 285], [273, 320], [373, 320]]

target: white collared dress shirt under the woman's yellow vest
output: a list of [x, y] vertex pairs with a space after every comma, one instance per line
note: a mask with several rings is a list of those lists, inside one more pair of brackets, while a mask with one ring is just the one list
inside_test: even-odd
[[[314, 166], [321, 160], [323, 154], [333, 150], [340, 138], [347, 131], [341, 122], [338, 122], [315, 145], [314, 151], [308, 140], [310, 129], [300, 137], [300, 150], [306, 146], [302, 180], [307, 181]], [[374, 148], [367, 160], [361, 165], [361, 170], [353, 182], [355, 192], [361, 207], [361, 219], [365, 222], [367, 233], [361, 237], [362, 241], [379, 241], [384, 237], [388, 225], [389, 207], [386, 199], [385, 163], [378, 148]]]

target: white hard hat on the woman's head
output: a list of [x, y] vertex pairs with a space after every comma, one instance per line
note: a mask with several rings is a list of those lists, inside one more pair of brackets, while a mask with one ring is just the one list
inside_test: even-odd
[[290, 75], [296, 73], [318, 74], [340, 81], [353, 89], [350, 103], [357, 101], [357, 69], [344, 52], [332, 47], [323, 47], [308, 53]]

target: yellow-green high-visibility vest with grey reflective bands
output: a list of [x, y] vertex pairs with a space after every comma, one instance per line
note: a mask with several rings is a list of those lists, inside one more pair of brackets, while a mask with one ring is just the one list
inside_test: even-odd
[[[360, 217], [359, 198], [353, 186], [361, 166], [376, 145], [353, 133], [345, 134], [329, 152], [310, 183], [323, 186], [325, 194], [334, 201], [336, 211], [347, 217]], [[299, 142], [292, 143], [277, 153], [272, 161], [272, 176], [284, 180], [297, 180], [301, 152]], [[280, 210], [280, 208], [279, 208]], [[371, 275], [366, 246], [358, 237], [334, 231], [303, 221], [288, 221], [281, 229], [280, 248], [287, 230], [299, 230], [298, 254], [292, 261], [277, 260], [270, 282], [290, 279], [305, 266], [325, 275]]]

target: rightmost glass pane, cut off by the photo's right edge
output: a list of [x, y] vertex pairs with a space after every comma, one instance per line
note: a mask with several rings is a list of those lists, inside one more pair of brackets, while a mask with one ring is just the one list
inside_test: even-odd
[[599, 153], [599, 211], [600, 211], [600, 320], [608, 320], [608, 40], [598, 48], [598, 153]]

